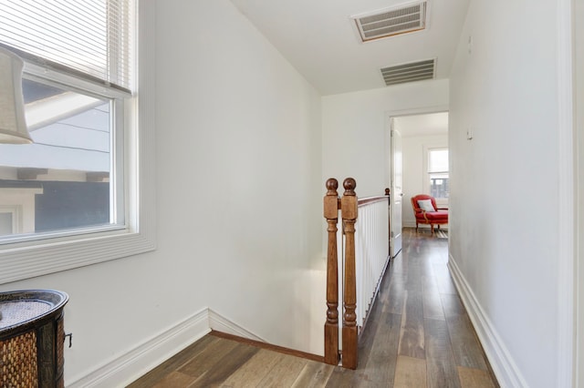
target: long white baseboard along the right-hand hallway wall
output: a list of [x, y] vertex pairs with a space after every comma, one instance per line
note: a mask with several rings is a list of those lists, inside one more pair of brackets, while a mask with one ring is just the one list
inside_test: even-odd
[[464, 279], [452, 255], [449, 255], [448, 268], [498, 383], [502, 388], [527, 387], [527, 382], [507, 351], [505, 342], [501, 340], [493, 323], [476, 300], [473, 290]]

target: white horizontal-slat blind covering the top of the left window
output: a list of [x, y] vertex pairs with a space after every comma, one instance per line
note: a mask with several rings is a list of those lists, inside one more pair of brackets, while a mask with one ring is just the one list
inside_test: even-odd
[[133, 0], [0, 0], [0, 44], [38, 66], [132, 90]]

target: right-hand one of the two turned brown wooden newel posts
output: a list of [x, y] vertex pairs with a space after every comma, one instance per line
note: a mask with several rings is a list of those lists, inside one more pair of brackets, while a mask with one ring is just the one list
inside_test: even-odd
[[345, 368], [357, 369], [357, 284], [355, 272], [355, 221], [357, 220], [357, 195], [355, 179], [343, 182], [345, 192], [340, 199], [340, 213], [345, 230], [345, 292], [343, 314], [343, 358]]

